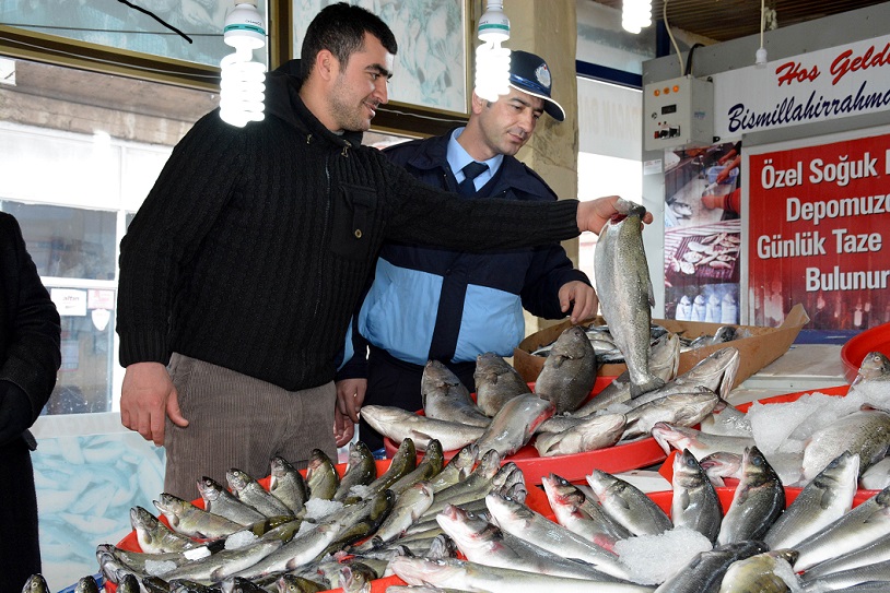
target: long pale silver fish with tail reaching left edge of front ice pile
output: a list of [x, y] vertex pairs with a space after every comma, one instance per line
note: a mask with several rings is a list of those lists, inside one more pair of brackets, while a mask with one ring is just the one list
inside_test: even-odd
[[612, 577], [629, 578], [626, 567], [614, 553], [563, 527], [526, 505], [496, 493], [485, 497], [485, 505], [491, 512], [492, 521], [505, 532], [523, 537], [563, 558], [589, 562]]

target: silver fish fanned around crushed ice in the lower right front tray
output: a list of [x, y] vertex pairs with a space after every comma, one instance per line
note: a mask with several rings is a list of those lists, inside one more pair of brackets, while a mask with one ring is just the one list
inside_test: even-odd
[[[551, 474], [543, 487], [555, 521], [497, 494], [481, 513], [446, 506], [436, 520], [462, 558], [396, 557], [390, 569], [417, 589], [388, 591], [887, 591], [890, 490], [853, 508], [857, 464], [842, 454], [787, 505], [751, 448], [725, 513], [689, 452], [675, 460], [667, 512], [606, 472], [594, 470], [587, 486]], [[644, 566], [646, 554], [668, 557], [660, 573]]]

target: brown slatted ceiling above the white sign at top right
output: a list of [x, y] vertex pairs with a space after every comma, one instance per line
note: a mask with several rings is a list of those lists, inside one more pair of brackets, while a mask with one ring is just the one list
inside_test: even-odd
[[[622, 0], [589, 0], [621, 10]], [[716, 41], [760, 33], [760, 0], [652, 0], [652, 17], [661, 19], [667, 1], [667, 20], [681, 28]], [[840, 12], [882, 4], [885, 0], [766, 0], [775, 10], [778, 28]]]

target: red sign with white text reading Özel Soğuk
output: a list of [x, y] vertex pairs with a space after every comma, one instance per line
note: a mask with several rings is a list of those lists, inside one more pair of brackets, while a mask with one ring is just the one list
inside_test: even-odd
[[820, 333], [828, 342], [890, 321], [888, 132], [749, 151], [749, 324], [777, 325], [798, 303], [817, 342]]

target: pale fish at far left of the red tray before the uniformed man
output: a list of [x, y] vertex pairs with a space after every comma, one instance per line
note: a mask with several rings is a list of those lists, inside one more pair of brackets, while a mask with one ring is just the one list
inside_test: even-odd
[[485, 428], [481, 426], [437, 420], [395, 406], [364, 405], [361, 414], [367, 424], [380, 435], [389, 437], [395, 442], [410, 438], [421, 451], [433, 439], [437, 440], [445, 451], [455, 451], [476, 442], [485, 431]]

